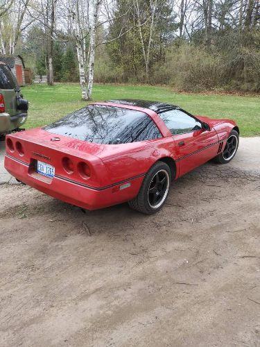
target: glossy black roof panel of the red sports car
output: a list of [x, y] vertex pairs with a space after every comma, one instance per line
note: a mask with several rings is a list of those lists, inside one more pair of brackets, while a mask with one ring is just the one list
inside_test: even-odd
[[173, 108], [178, 108], [176, 105], [171, 105], [171, 103], [162, 103], [160, 101], [148, 101], [148, 100], [138, 100], [138, 99], [120, 99], [120, 100], [108, 100], [109, 103], [118, 103], [119, 105], [132, 105], [139, 108], [148, 108], [157, 113], [164, 112], [166, 110], [172, 110]]

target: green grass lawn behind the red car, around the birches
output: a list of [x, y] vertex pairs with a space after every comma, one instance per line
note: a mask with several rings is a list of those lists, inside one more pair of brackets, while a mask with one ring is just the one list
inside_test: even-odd
[[[75, 84], [31, 85], [22, 88], [30, 101], [26, 128], [43, 126], [82, 108], [80, 87]], [[260, 135], [260, 96], [179, 94], [167, 87], [147, 85], [94, 85], [93, 100], [146, 99], [179, 105], [193, 115], [234, 119], [242, 136]]]

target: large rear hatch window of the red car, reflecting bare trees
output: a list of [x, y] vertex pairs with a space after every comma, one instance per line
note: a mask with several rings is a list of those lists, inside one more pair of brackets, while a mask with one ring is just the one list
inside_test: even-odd
[[127, 144], [162, 137], [146, 113], [106, 105], [81, 108], [44, 130], [98, 144]]

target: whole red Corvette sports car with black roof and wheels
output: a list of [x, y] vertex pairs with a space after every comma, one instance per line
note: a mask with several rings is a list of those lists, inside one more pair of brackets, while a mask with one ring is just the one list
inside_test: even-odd
[[239, 146], [234, 121], [193, 116], [167, 103], [93, 103], [44, 128], [6, 136], [5, 167], [54, 198], [87, 210], [128, 201], [152, 214], [172, 180]]

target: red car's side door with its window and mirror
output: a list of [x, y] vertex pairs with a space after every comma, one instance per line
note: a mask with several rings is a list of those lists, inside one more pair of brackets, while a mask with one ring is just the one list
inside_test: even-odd
[[168, 110], [159, 115], [173, 134], [179, 176], [217, 155], [219, 144], [214, 128], [205, 130], [196, 117], [180, 109]]

